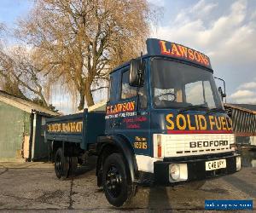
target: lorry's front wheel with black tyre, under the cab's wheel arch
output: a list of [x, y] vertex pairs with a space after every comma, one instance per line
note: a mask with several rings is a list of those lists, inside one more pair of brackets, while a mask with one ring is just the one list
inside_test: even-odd
[[132, 197], [132, 183], [121, 154], [113, 153], [103, 164], [102, 183], [109, 204], [119, 207]]

